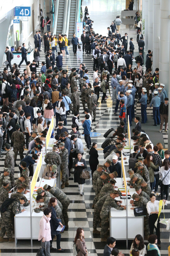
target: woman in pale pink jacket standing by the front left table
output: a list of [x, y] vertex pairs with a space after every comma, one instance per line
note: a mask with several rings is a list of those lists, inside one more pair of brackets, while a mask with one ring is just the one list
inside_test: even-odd
[[40, 231], [38, 235], [38, 241], [41, 240], [41, 247], [46, 248], [47, 256], [50, 256], [50, 240], [51, 240], [51, 228], [50, 217], [51, 209], [45, 208], [44, 215], [40, 220]]

